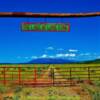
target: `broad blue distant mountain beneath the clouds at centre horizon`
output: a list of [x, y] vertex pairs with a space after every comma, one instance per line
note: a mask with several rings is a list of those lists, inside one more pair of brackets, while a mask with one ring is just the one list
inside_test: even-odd
[[38, 58], [28, 62], [28, 64], [65, 64], [73, 63], [74, 61], [58, 58]]

